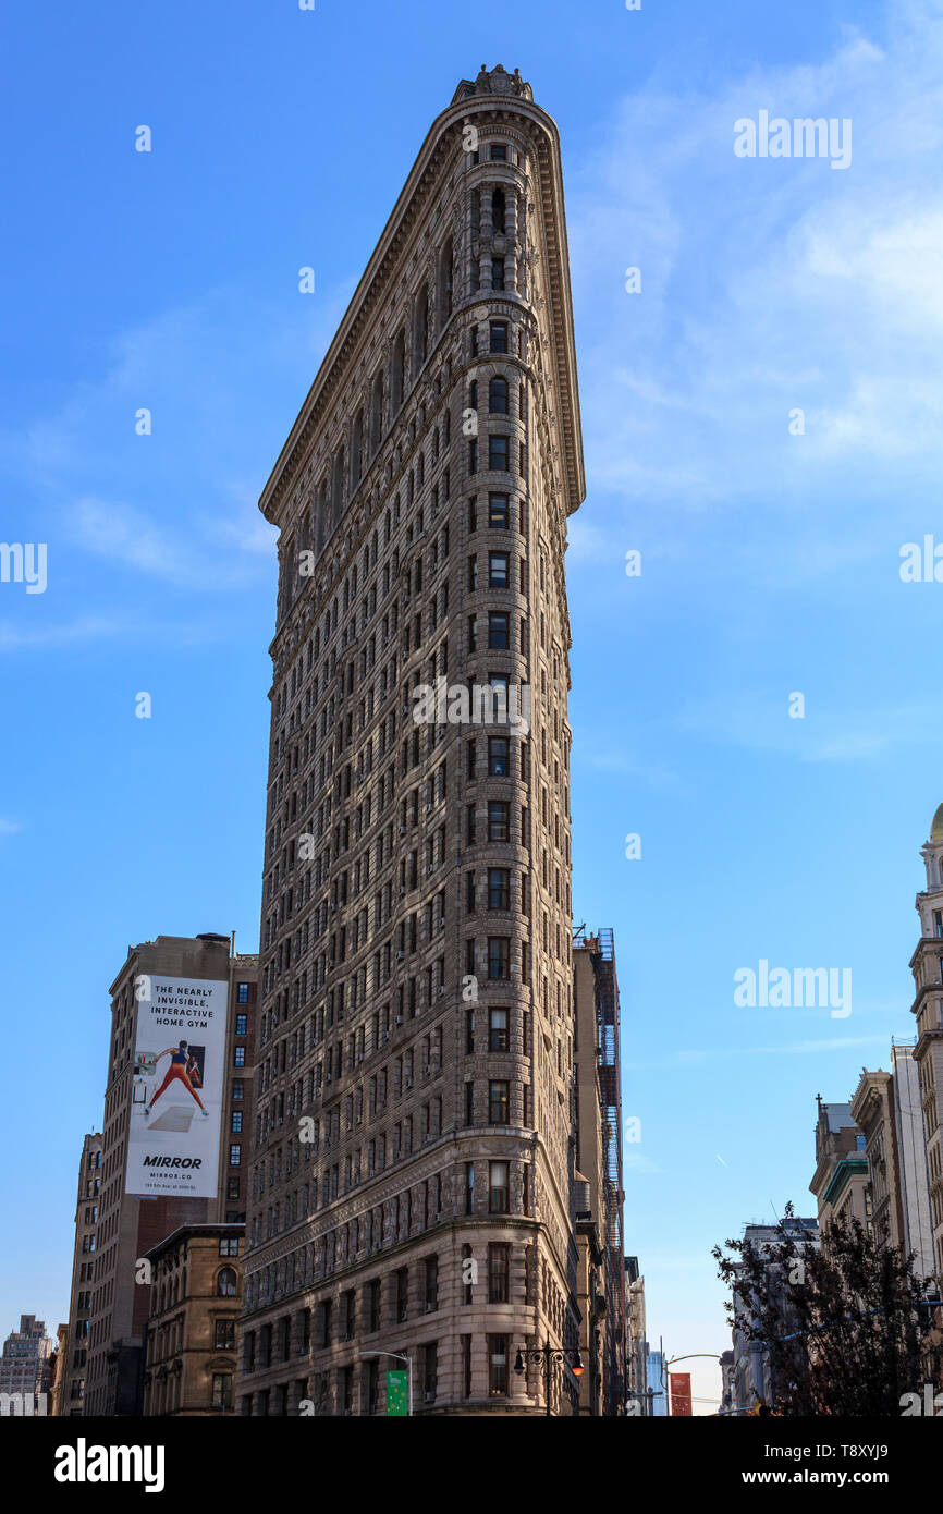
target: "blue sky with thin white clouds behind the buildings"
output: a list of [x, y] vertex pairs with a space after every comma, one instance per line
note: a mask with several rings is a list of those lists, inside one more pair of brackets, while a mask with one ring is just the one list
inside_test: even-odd
[[[813, 1210], [816, 1092], [848, 1098], [913, 1025], [943, 586], [902, 583], [899, 553], [943, 542], [940, 6], [104, 0], [6, 30], [0, 536], [47, 542], [48, 584], [0, 584], [0, 1334], [67, 1308], [126, 945], [257, 942], [256, 500], [431, 118], [484, 61], [563, 133], [574, 908], [616, 933], [627, 1251], [649, 1334], [724, 1350], [710, 1246]], [[851, 120], [851, 167], [734, 156], [761, 109]], [[760, 958], [851, 967], [852, 1013], [739, 1008]]]

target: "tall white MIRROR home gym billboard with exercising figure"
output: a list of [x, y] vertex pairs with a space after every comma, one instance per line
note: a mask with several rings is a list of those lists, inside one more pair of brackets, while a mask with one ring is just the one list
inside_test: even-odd
[[216, 1196], [229, 986], [141, 975], [124, 1192]]

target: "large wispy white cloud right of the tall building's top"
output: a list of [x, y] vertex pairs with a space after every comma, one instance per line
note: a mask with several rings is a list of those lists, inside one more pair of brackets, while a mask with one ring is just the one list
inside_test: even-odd
[[[941, 73], [937, 8], [914, 5], [885, 47], [852, 33], [817, 65], [624, 101], [568, 194], [596, 488], [664, 522], [668, 498], [786, 501], [810, 471], [870, 483], [875, 457], [938, 477]], [[851, 168], [737, 159], [733, 124], [761, 107], [851, 118]]]

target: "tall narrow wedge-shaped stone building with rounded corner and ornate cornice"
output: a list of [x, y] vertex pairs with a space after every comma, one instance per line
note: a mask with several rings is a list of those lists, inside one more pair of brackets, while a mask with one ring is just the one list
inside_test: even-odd
[[433, 121], [260, 500], [244, 1414], [384, 1414], [406, 1366], [413, 1413], [575, 1413], [569, 1367], [527, 1350], [578, 1344], [583, 495], [557, 127], [483, 68]]

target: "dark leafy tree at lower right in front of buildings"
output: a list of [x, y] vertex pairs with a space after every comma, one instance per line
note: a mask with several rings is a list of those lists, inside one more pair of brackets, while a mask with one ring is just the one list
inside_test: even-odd
[[725, 1246], [731, 1255], [711, 1255], [730, 1288], [728, 1320], [763, 1346], [772, 1413], [899, 1416], [902, 1394], [920, 1391], [919, 1305], [932, 1279], [917, 1278], [913, 1257], [843, 1214], [814, 1248], [792, 1204], [772, 1245]]

